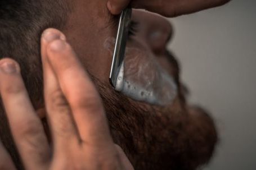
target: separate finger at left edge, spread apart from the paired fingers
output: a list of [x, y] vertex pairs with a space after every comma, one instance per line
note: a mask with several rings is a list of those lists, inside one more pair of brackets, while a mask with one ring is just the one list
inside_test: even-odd
[[0, 68], [0, 92], [17, 149], [26, 169], [40, 169], [48, 162], [50, 150], [42, 124], [30, 103], [19, 65], [5, 58], [0, 61]]

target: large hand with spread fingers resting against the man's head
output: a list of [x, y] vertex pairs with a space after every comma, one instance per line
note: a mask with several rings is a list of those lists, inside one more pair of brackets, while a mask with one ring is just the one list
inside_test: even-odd
[[[64, 34], [48, 29], [41, 45], [52, 149], [29, 100], [19, 65], [10, 58], [0, 61], [2, 101], [25, 169], [133, 169], [122, 149], [113, 143], [101, 98]], [[0, 166], [15, 169], [2, 145]]]

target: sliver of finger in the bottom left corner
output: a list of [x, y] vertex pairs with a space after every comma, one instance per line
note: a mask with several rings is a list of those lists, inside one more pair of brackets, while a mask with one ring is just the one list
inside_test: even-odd
[[0, 169], [1, 170], [15, 170], [14, 163], [10, 155], [7, 153], [6, 149], [0, 141]]

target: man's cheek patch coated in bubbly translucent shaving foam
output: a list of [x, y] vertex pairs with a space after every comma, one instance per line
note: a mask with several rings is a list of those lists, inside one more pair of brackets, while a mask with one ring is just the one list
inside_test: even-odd
[[177, 94], [173, 78], [153, 53], [140, 45], [127, 46], [116, 90], [135, 100], [156, 105], [172, 103]]

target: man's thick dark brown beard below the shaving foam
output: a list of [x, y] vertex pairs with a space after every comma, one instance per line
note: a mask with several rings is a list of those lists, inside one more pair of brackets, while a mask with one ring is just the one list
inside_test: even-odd
[[134, 169], [196, 169], [212, 157], [217, 132], [203, 111], [188, 113], [181, 94], [158, 107], [128, 99], [93, 77], [104, 103], [114, 142]]

